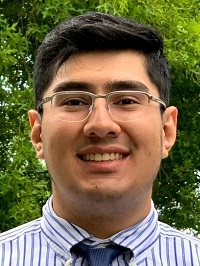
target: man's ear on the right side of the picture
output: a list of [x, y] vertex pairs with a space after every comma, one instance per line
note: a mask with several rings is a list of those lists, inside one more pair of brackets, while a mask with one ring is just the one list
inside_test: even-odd
[[168, 107], [163, 114], [163, 159], [168, 157], [176, 140], [177, 116], [178, 110], [174, 106]]

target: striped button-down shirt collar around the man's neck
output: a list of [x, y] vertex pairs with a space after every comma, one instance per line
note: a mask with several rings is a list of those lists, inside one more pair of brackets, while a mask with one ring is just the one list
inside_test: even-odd
[[71, 256], [71, 247], [84, 239], [89, 239], [96, 243], [98, 241], [99, 243], [114, 242], [130, 248], [134, 253], [134, 257], [136, 257], [141, 253], [144, 254], [145, 250], [147, 252], [148, 248], [154, 244], [160, 233], [158, 228], [158, 215], [154, 209], [153, 202], [151, 204], [151, 211], [144, 220], [113, 235], [109, 239], [100, 240], [94, 238], [82, 228], [58, 217], [52, 208], [52, 196], [43, 207], [41, 228], [47, 242], [63, 260]]

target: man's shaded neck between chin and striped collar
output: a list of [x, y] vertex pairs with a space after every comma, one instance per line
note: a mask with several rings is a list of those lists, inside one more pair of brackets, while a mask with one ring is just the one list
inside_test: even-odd
[[[62, 205], [58, 204], [60, 202]], [[93, 201], [89, 204], [80, 199], [77, 203], [69, 204], [69, 199], [63, 200], [54, 195], [53, 209], [59, 217], [94, 237], [106, 239], [142, 221], [151, 210], [151, 197], [132, 200], [131, 204], [122, 200], [103, 203]]]

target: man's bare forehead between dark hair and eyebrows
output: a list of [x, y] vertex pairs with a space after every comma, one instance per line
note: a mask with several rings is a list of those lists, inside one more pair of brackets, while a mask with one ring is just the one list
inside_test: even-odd
[[68, 82], [86, 83], [94, 93], [106, 93], [108, 83], [117, 84], [119, 81], [142, 83], [149, 93], [158, 95], [156, 86], [147, 74], [145, 57], [129, 50], [89, 52], [71, 56], [59, 68], [46, 94], [55, 92], [56, 87]]

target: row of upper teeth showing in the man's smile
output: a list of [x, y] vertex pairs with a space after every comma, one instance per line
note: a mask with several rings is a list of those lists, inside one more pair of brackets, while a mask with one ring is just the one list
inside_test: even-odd
[[124, 155], [120, 153], [95, 153], [95, 154], [86, 154], [83, 155], [84, 161], [114, 161], [114, 160], [120, 160], [123, 159]]

